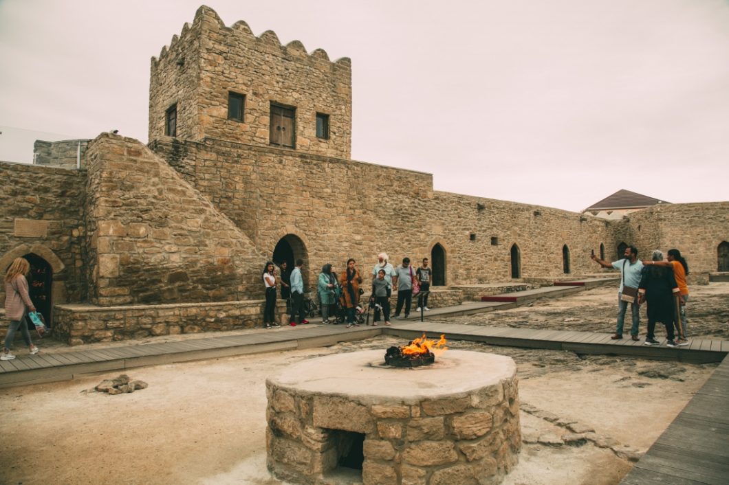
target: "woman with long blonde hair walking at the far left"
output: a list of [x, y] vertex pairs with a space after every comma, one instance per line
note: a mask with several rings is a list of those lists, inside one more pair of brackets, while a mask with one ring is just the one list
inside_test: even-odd
[[38, 347], [31, 340], [31, 333], [28, 331], [26, 315], [28, 310], [36, 311], [36, 307], [28, 295], [28, 280], [26, 274], [31, 270], [31, 264], [25, 258], [15, 258], [5, 273], [5, 318], [10, 320], [7, 328], [5, 344], [0, 360], [12, 360], [15, 355], [10, 353], [10, 346], [15, 339], [15, 332], [20, 327], [20, 333], [28, 345], [31, 355], [38, 353]]

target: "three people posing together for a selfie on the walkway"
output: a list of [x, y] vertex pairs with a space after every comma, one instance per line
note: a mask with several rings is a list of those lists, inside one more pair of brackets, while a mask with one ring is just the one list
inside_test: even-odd
[[[639, 341], [640, 305], [647, 304], [648, 332], [645, 345], [658, 345], [655, 339], [655, 324], [666, 326], [667, 347], [688, 345], [688, 264], [681, 251], [668, 251], [666, 261], [663, 252], [653, 251], [650, 260], [638, 259], [635, 246], [625, 248], [625, 258], [609, 263], [591, 256], [602, 267], [620, 270], [620, 288], [617, 291], [617, 327], [614, 340], [623, 338], [623, 326], [628, 305], [631, 307], [631, 339]], [[676, 331], [674, 332], [674, 326]]]

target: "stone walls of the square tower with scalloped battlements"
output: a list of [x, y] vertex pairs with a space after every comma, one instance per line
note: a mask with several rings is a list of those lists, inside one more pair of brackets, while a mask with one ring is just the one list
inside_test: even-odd
[[[200, 7], [192, 25], [152, 59], [149, 140], [163, 138], [165, 111], [178, 109], [179, 138], [219, 138], [268, 146], [270, 103], [295, 108], [297, 151], [348, 158], [351, 154], [351, 62], [285, 47], [276, 33], [253, 35], [239, 21], [228, 28]], [[245, 95], [243, 121], [228, 119], [228, 92]], [[317, 138], [316, 114], [328, 114], [330, 138]]]

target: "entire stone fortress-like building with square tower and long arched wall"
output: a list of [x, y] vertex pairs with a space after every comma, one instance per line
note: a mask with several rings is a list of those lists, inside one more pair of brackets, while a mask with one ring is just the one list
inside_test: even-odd
[[591, 250], [617, 259], [631, 244], [680, 248], [693, 283], [729, 270], [729, 202], [612, 221], [352, 160], [351, 68], [200, 7], [152, 58], [146, 146], [102, 133], [0, 163], [0, 274], [28, 258], [55, 336], [82, 344], [260, 326], [269, 259], [303, 259], [311, 290], [326, 263], [368, 273], [381, 251], [427, 256], [436, 306], [597, 272]]

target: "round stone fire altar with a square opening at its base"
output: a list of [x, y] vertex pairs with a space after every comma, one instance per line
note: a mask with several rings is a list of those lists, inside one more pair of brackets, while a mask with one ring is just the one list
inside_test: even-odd
[[431, 366], [391, 368], [384, 354], [312, 358], [266, 381], [274, 476], [295, 484], [501, 482], [521, 449], [514, 361], [448, 350]]

